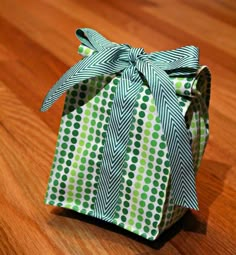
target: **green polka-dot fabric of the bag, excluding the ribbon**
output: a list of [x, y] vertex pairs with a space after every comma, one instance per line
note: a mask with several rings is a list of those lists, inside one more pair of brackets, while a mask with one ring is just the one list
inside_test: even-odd
[[[78, 51], [83, 56], [93, 52], [84, 46]], [[208, 138], [210, 82], [207, 70], [203, 68], [196, 77], [172, 78], [191, 136], [195, 171]], [[103, 147], [119, 76], [85, 80], [67, 92], [45, 197], [47, 204], [93, 216]], [[182, 217], [187, 209], [173, 203], [169, 167], [158, 109], [144, 84], [135, 105], [112, 223], [154, 240]]]

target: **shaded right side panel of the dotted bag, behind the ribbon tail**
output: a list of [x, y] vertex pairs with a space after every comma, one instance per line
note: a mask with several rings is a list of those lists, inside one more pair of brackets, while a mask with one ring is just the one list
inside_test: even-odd
[[[199, 74], [193, 80], [192, 84], [194, 98], [189, 101], [185, 118], [190, 131], [193, 161], [195, 173], [197, 173], [209, 137], [208, 106], [210, 99], [210, 73], [208, 68], [201, 67]], [[166, 197], [163, 218], [159, 225], [160, 233], [173, 225], [188, 210], [174, 204], [170, 190]]]

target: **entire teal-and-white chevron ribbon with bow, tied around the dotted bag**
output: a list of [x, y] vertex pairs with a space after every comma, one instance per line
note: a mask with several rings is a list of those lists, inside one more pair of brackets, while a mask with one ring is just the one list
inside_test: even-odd
[[121, 72], [107, 129], [94, 215], [107, 220], [113, 217], [133, 110], [143, 77], [153, 94], [167, 140], [174, 202], [198, 209], [189, 133], [170, 79], [196, 73], [198, 48], [186, 46], [147, 54], [142, 48], [112, 43], [92, 29], [78, 29], [76, 35], [94, 53], [56, 82], [45, 97], [41, 111], [48, 110], [65, 91], [85, 79]]

